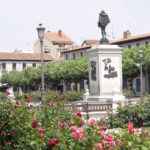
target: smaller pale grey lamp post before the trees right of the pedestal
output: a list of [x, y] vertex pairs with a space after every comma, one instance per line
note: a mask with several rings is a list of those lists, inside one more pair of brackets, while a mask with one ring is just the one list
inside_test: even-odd
[[139, 50], [140, 56], [140, 97], [143, 97], [143, 50]]

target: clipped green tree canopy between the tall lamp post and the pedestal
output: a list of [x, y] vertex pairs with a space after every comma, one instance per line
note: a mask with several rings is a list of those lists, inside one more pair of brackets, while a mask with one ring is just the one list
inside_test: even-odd
[[88, 76], [88, 61], [86, 58], [52, 62], [47, 66], [47, 76], [50, 81], [60, 82], [80, 81]]

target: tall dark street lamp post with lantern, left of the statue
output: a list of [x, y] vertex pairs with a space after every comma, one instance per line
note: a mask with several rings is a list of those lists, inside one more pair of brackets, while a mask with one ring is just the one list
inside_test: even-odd
[[38, 32], [38, 38], [40, 41], [40, 59], [41, 59], [41, 101], [43, 103], [43, 95], [44, 95], [44, 52], [43, 52], [43, 40], [44, 40], [44, 34], [45, 34], [45, 28], [42, 26], [42, 24], [39, 24], [37, 27]]

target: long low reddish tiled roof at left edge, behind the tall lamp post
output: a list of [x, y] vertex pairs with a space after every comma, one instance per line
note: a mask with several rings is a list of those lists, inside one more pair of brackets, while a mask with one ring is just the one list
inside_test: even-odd
[[[0, 61], [40, 61], [40, 56], [40, 53], [0, 52]], [[51, 61], [53, 59], [50, 54], [44, 54], [44, 61]]]

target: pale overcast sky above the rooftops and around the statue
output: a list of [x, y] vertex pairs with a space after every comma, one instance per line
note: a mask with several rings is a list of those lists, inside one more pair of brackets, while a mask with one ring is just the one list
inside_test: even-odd
[[76, 43], [99, 39], [98, 14], [111, 18], [110, 38], [150, 32], [150, 0], [0, 0], [0, 50], [31, 50], [36, 27], [61, 29]]

